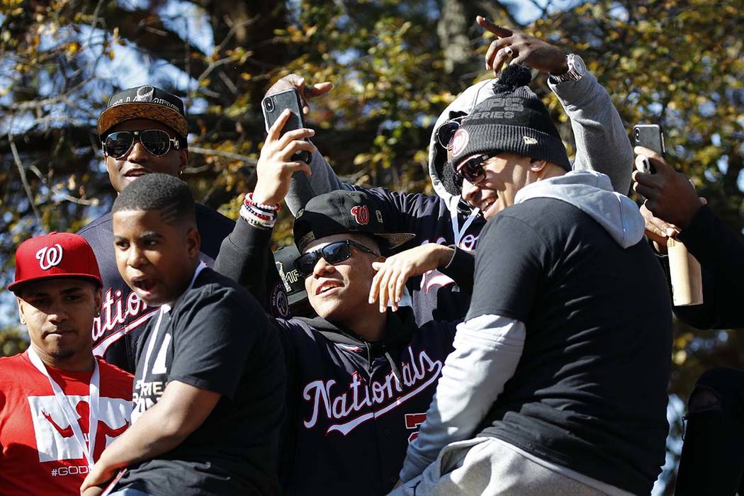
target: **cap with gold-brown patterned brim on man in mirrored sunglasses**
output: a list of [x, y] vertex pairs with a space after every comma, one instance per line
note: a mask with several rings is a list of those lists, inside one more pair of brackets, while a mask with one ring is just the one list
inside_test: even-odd
[[119, 91], [109, 98], [98, 116], [98, 135], [130, 119], [151, 119], [170, 127], [184, 140], [188, 135], [183, 100], [154, 86], [137, 86]]

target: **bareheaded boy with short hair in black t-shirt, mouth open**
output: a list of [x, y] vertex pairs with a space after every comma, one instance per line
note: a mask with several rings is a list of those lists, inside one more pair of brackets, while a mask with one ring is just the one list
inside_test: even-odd
[[159, 309], [138, 344], [132, 427], [81, 489], [128, 467], [115, 490], [277, 494], [286, 373], [276, 332], [253, 297], [200, 262], [184, 182], [145, 175], [112, 211], [121, 276]]

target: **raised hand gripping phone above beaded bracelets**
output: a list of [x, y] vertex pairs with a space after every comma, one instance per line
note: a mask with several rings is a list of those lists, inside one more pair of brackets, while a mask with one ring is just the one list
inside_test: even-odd
[[301, 170], [311, 174], [310, 166], [303, 161], [293, 161], [292, 155], [300, 150], [312, 153], [315, 146], [304, 138], [312, 138], [315, 131], [302, 128], [281, 134], [284, 124], [291, 112], [286, 109], [274, 125], [269, 129], [269, 135], [263, 143], [261, 154], [256, 165], [257, 182], [253, 191], [255, 202], [263, 204], [277, 204], [282, 201], [289, 191], [292, 174]]

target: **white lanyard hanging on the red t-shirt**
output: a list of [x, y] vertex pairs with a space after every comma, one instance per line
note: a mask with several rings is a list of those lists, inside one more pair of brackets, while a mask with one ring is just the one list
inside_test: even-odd
[[98, 428], [98, 386], [100, 384], [98, 361], [95, 358], [93, 359], [93, 375], [91, 376], [89, 392], [90, 411], [88, 414], [88, 442], [86, 443], [86, 438], [83, 436], [83, 431], [80, 430], [77, 416], [75, 415], [70, 402], [68, 402], [67, 396], [65, 396], [65, 393], [62, 393], [60, 384], [57, 384], [57, 381], [54, 381], [54, 379], [51, 378], [48, 370], [46, 370], [46, 367], [44, 366], [44, 362], [42, 362], [42, 359], [36, 354], [36, 351], [33, 350], [33, 346], [28, 347], [28, 358], [31, 358], [33, 366], [49, 379], [49, 385], [51, 385], [51, 390], [54, 391], [54, 397], [57, 399], [60, 408], [62, 408], [62, 412], [65, 413], [65, 418], [72, 428], [72, 434], [74, 434], [77, 443], [80, 445], [80, 448], [83, 448], [83, 454], [85, 455], [86, 460], [88, 460], [88, 467], [92, 469], [94, 463], [93, 455], [95, 452], [95, 436]]

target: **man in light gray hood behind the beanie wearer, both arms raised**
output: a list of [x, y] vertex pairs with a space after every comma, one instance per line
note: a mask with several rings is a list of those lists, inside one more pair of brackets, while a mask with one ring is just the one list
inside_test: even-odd
[[[627, 193], [632, 169], [632, 147], [609, 94], [586, 69], [581, 58], [574, 54], [567, 56], [559, 48], [525, 33], [487, 25], [482, 19], [478, 19], [478, 22], [499, 36], [492, 44], [494, 49], [487, 54], [488, 68], [498, 73], [505, 62], [501, 55], [509, 51], [511, 57], [550, 74], [548, 85], [568, 114], [574, 131], [576, 157], [572, 162], [573, 169], [606, 173], [615, 191]], [[403, 245], [403, 249], [430, 242], [457, 248], [448, 266], [427, 271], [420, 277], [411, 277], [406, 285], [410, 298], [404, 295], [403, 300], [394, 302], [395, 305], [412, 306], [418, 324], [462, 318], [469, 305], [470, 292], [455, 284], [455, 274], [462, 271], [466, 256], [462, 252], [475, 250], [485, 220], [481, 210], [464, 201], [461, 190], [452, 181], [453, 171], [446, 157], [446, 135], [478, 103], [493, 97], [496, 81], [484, 80], [467, 88], [444, 109], [434, 124], [429, 145], [429, 174], [437, 196], [398, 193], [381, 187], [367, 190], [346, 184], [315, 150], [310, 162], [312, 175], [295, 174], [285, 197], [289, 209], [296, 214], [312, 197], [322, 193], [367, 190], [382, 205], [388, 228], [416, 235], [411, 242]], [[310, 96], [327, 91], [330, 85], [320, 83], [306, 87], [304, 80], [294, 74], [280, 80], [268, 93], [289, 87], [297, 87]], [[394, 263], [396, 257], [390, 257], [380, 270], [384, 271]], [[384, 308], [385, 297], [381, 299]]]

